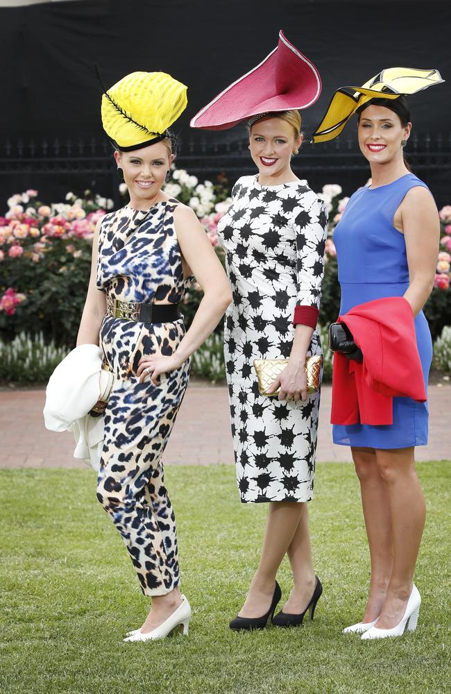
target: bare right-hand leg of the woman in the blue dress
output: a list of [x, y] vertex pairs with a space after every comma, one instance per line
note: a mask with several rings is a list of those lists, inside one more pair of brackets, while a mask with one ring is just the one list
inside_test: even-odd
[[377, 467], [389, 498], [393, 568], [379, 629], [395, 627], [405, 613], [425, 526], [425, 498], [415, 469], [414, 448], [376, 450]]

